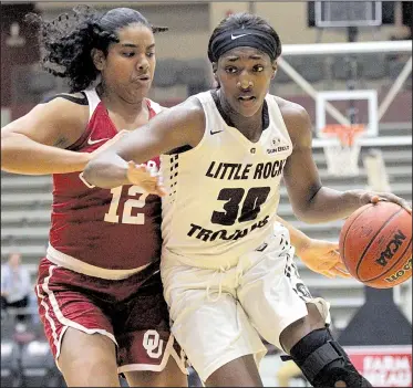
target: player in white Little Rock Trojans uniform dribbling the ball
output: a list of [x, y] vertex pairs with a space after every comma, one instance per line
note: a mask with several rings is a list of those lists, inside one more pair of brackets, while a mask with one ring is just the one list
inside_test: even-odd
[[230, 15], [208, 45], [219, 87], [126, 135], [84, 178], [103, 188], [134, 183], [127, 161], [163, 155], [165, 298], [172, 331], [207, 386], [262, 386], [260, 334], [314, 387], [371, 387], [331, 336], [328, 303], [312, 298], [298, 275], [288, 230], [276, 222], [280, 179], [308, 222], [342, 219], [380, 199], [409, 205], [392, 193], [322, 186], [307, 112], [268, 94], [280, 53], [265, 20]]

